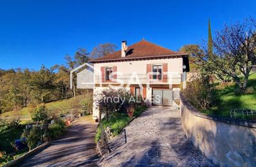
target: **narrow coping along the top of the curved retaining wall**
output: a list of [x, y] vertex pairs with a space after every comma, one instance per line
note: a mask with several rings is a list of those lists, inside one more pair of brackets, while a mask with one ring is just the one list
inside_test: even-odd
[[206, 114], [199, 112], [194, 106], [192, 106], [182, 93], [180, 93], [180, 100], [182, 101], [183, 105], [186, 105], [187, 109], [190, 110], [190, 112], [192, 112], [192, 114], [194, 114], [197, 117], [211, 119], [214, 121], [221, 121], [224, 123], [230, 123], [233, 125], [239, 125], [239, 126], [243, 126], [243, 127], [256, 128], [256, 121], [253, 121], [253, 120], [207, 116]]

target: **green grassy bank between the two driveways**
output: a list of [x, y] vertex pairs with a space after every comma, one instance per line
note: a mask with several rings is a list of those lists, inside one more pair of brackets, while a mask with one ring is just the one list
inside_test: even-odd
[[[138, 117], [140, 116], [140, 114], [142, 114], [142, 112], [144, 112], [147, 109], [147, 107], [142, 107], [139, 106], [134, 110], [134, 117]], [[111, 119], [109, 119], [108, 121], [106, 121], [104, 118], [100, 121], [100, 125], [97, 128], [97, 132], [95, 135], [95, 141], [98, 142], [100, 140], [100, 136], [101, 136], [101, 125], [103, 126], [103, 128], [107, 128], [110, 127], [111, 128], [111, 132], [114, 136], [117, 136], [118, 134], [120, 134], [120, 132], [122, 131], [122, 129], [124, 127], [126, 127], [128, 125], [128, 122], [131, 120], [132, 118], [129, 118], [129, 116], [127, 116], [127, 113], [114, 113], [111, 116]]]

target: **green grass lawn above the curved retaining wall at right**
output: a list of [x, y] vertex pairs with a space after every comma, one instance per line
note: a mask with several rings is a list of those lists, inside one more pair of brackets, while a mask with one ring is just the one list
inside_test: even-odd
[[[256, 73], [250, 75], [248, 87], [253, 87], [256, 91]], [[226, 87], [223, 90], [217, 91], [221, 103], [217, 107], [212, 107], [206, 111], [206, 114], [213, 116], [230, 117], [231, 109], [251, 109], [256, 110], [256, 92], [254, 94], [242, 94], [235, 96], [235, 85]]]

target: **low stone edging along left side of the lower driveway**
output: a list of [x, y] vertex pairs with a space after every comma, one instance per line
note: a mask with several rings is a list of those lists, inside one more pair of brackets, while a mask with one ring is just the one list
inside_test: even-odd
[[40, 146], [37, 146], [36, 148], [34, 148], [33, 150], [30, 150], [29, 152], [27, 152], [26, 154], [21, 155], [21, 157], [17, 157], [17, 159], [14, 159], [13, 161], [10, 161], [10, 163], [5, 164], [5, 167], [9, 167], [9, 166], [17, 166], [19, 163], [21, 163], [21, 161], [23, 161], [23, 159], [26, 159], [26, 157], [29, 157], [30, 155], [34, 154], [35, 152], [41, 150], [42, 148], [49, 146], [51, 143], [50, 142], [46, 142]]

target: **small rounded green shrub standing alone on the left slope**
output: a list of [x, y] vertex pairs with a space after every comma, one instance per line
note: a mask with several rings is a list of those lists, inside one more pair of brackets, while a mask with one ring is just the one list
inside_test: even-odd
[[47, 121], [49, 119], [48, 117], [48, 111], [46, 109], [46, 106], [44, 104], [37, 105], [35, 110], [32, 112], [32, 120], [33, 121]]

